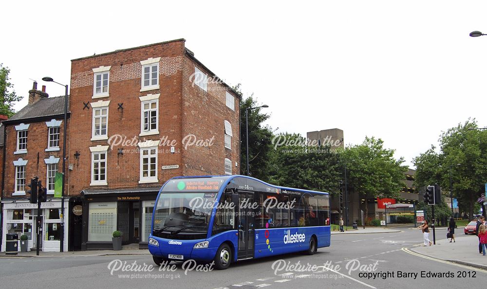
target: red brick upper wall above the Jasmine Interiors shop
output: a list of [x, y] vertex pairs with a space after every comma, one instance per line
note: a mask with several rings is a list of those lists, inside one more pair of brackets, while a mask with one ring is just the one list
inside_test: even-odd
[[[27, 122], [25, 124], [27, 124]], [[27, 153], [14, 154], [14, 152], [17, 150], [17, 131], [15, 130], [15, 125], [7, 125], [5, 126], [5, 130], [7, 132], [5, 138], [5, 197], [12, 197], [12, 193], [15, 191], [15, 166], [13, 162], [19, 158], [27, 160], [27, 165], [25, 168], [25, 184], [29, 184], [33, 177], [38, 176], [39, 180], [42, 181], [42, 185], [46, 187], [47, 165], [44, 162], [44, 159], [49, 158], [51, 155], [58, 157], [58, 171], [62, 171], [64, 120], [61, 123], [59, 132], [59, 151], [56, 152], [45, 151], [47, 149], [47, 139], [49, 134], [46, 121], [30, 123], [27, 135]], [[68, 134], [66, 142], [69, 143], [69, 119], [67, 130]], [[67, 157], [69, 159], [69, 154], [67, 154]], [[66, 182], [68, 182], [68, 161], [66, 162], [66, 176]], [[29, 188], [26, 188], [26, 190], [28, 189]], [[67, 190], [65, 194], [68, 196]]]

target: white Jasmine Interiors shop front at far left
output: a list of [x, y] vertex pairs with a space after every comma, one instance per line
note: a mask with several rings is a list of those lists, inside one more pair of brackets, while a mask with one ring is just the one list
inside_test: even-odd
[[[40, 217], [37, 219], [37, 204], [31, 204], [27, 200], [2, 200], [2, 250], [5, 250], [6, 234], [15, 233], [19, 236], [27, 236], [29, 249], [37, 248], [36, 223], [40, 223], [40, 243], [43, 252], [59, 252], [61, 239], [61, 200], [48, 200], [41, 203]], [[68, 202], [65, 201], [65, 207]], [[66, 215], [65, 215], [66, 216]], [[64, 228], [67, 232], [68, 218], [64, 218]], [[64, 234], [64, 251], [68, 249], [67, 234]], [[28, 250], [29, 250], [28, 249]], [[20, 248], [19, 248], [20, 250]]]

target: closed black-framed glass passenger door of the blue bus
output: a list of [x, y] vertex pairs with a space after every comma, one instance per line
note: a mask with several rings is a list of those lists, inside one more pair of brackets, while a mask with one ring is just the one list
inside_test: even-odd
[[238, 260], [254, 257], [255, 228], [253, 204], [253, 192], [239, 192], [239, 218], [237, 223], [239, 232]]

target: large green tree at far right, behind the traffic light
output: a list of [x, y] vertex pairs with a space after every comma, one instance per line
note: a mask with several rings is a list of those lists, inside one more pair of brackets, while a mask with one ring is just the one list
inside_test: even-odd
[[487, 131], [477, 128], [475, 119], [468, 119], [440, 135], [439, 153], [432, 146], [413, 160], [415, 185], [421, 188], [420, 192], [436, 183], [443, 194], [450, 196], [451, 178], [453, 197], [457, 198], [460, 211], [468, 212], [470, 219], [480, 209], [477, 199], [485, 191], [487, 181]]

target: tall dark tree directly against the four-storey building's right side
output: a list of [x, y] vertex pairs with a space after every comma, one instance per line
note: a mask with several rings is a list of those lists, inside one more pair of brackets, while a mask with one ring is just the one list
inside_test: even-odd
[[[233, 89], [243, 98], [240, 84]], [[247, 146], [246, 146], [246, 129], [245, 129], [245, 109], [259, 106], [253, 95], [240, 102], [240, 173], [247, 174]], [[248, 155], [249, 155], [249, 175], [264, 181], [269, 179], [269, 152], [271, 150], [272, 130], [269, 126], [263, 126], [263, 122], [269, 119], [268, 114], [261, 113], [260, 108], [248, 110]]]

